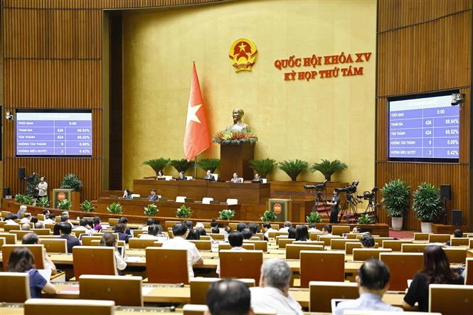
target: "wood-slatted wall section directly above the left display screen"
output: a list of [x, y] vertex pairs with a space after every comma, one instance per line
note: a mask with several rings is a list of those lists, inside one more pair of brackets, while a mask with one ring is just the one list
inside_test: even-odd
[[5, 59], [4, 78], [8, 107], [102, 107], [102, 60]]

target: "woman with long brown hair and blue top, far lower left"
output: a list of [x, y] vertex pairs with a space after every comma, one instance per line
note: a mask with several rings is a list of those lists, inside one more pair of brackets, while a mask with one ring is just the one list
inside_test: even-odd
[[[44, 279], [39, 274], [38, 269], [34, 265], [34, 257], [30, 250], [26, 247], [15, 248], [9, 257], [8, 262], [9, 272], [27, 272], [30, 280], [30, 294], [31, 299], [37, 299], [41, 297], [41, 291], [49, 294], [55, 294], [56, 289], [51, 282]], [[6, 288], [4, 288], [6, 289]]]

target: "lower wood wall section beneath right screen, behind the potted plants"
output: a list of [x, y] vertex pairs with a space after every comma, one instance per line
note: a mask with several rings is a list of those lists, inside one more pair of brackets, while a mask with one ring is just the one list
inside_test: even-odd
[[[433, 183], [439, 187], [441, 184], [450, 184], [452, 187], [452, 201], [447, 203], [447, 222], [450, 220], [452, 209], [460, 209], [463, 213], [463, 223], [467, 223], [469, 203], [469, 166], [467, 164], [440, 164], [440, 163], [395, 163], [376, 162], [376, 185], [383, 187], [383, 183], [391, 179], [400, 178], [408, 183], [413, 193], [422, 182]], [[412, 205], [412, 203], [410, 203]], [[380, 210], [381, 223], [390, 224], [384, 208]], [[404, 227], [420, 230], [420, 221], [415, 218], [413, 210], [405, 213]]]

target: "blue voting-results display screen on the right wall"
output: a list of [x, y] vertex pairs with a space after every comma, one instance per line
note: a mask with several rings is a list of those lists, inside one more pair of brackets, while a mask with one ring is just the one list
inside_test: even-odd
[[451, 160], [459, 156], [459, 106], [451, 95], [389, 102], [389, 158]]

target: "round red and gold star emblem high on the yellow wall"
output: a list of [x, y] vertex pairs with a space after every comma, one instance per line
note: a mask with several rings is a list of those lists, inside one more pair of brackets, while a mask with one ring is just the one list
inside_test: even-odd
[[255, 43], [248, 38], [238, 38], [230, 46], [230, 52], [228, 53], [230, 63], [235, 68], [235, 72], [242, 70], [251, 71], [251, 68], [255, 65], [256, 55]]

